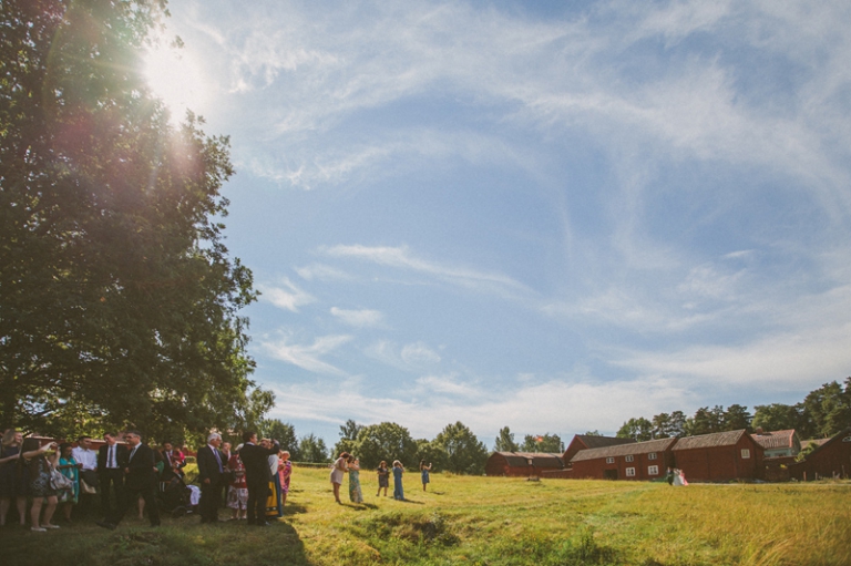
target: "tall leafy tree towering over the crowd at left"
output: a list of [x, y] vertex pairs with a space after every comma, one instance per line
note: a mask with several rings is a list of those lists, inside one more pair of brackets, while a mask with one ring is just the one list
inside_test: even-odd
[[139, 72], [164, 7], [0, 2], [6, 424], [199, 435], [271, 402], [250, 394], [252, 274], [223, 243], [228, 140], [171, 126]]

